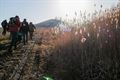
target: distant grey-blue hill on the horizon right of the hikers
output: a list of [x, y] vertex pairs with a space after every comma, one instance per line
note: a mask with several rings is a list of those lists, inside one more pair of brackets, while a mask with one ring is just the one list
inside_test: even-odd
[[59, 24], [63, 23], [61, 20], [57, 20], [57, 19], [49, 19], [47, 21], [43, 21], [41, 23], [36, 24], [36, 27], [55, 27], [58, 26]]

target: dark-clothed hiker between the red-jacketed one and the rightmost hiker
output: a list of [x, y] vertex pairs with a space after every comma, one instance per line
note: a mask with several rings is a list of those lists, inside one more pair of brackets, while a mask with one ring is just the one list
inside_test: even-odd
[[29, 25], [26, 19], [23, 20], [22, 26], [20, 28], [20, 32], [23, 35], [23, 43], [24, 45], [28, 42], [28, 31], [29, 31]]

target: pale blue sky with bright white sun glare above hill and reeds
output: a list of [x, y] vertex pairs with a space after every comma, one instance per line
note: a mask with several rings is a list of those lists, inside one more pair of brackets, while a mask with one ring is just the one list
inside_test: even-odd
[[[19, 15], [21, 21], [39, 23], [41, 21], [66, 14], [72, 15], [75, 11], [93, 11], [101, 4], [103, 8], [115, 6], [119, 0], [0, 0], [0, 22], [4, 19]], [[94, 4], [97, 4], [94, 8]]]

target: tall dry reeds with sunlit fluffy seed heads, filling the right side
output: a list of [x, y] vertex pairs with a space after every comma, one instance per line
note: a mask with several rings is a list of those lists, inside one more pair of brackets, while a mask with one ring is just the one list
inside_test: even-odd
[[70, 32], [38, 31], [47, 41], [45, 73], [56, 80], [119, 80], [120, 11], [115, 10], [112, 17], [103, 16]]

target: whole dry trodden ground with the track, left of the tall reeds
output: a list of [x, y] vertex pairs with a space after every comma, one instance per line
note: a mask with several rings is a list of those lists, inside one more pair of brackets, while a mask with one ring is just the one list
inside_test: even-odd
[[[46, 50], [49, 47], [47, 41], [48, 39], [41, 40], [40, 35], [36, 34], [33, 41], [25, 46], [20, 45], [12, 54], [7, 53], [0, 58], [0, 80], [39, 80], [45, 72], [42, 68], [46, 67]], [[40, 58], [37, 65], [36, 52]]]

